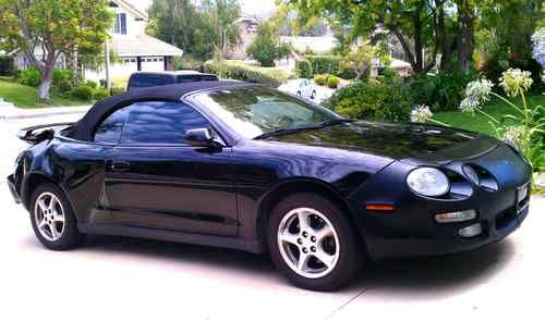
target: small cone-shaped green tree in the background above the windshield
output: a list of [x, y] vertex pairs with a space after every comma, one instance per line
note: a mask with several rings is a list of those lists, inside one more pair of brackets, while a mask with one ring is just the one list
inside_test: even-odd
[[290, 52], [291, 46], [280, 41], [278, 29], [271, 21], [259, 25], [257, 36], [246, 50], [246, 53], [257, 60], [262, 66], [274, 66], [275, 60]]

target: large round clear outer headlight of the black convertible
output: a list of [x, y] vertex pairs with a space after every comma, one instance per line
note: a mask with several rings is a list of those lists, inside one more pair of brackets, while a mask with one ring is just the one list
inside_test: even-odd
[[441, 171], [433, 168], [420, 168], [407, 176], [407, 184], [412, 192], [423, 196], [441, 196], [450, 189], [450, 183]]

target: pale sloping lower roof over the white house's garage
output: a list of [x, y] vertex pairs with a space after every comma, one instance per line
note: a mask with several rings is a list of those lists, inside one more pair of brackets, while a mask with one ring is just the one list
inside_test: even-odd
[[148, 35], [113, 35], [111, 47], [118, 57], [183, 55], [183, 50]]

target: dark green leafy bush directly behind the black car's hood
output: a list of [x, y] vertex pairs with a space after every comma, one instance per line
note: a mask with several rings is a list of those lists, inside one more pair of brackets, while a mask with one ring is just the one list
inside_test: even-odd
[[351, 119], [407, 121], [412, 106], [407, 90], [400, 77], [368, 79], [340, 88], [324, 106]]

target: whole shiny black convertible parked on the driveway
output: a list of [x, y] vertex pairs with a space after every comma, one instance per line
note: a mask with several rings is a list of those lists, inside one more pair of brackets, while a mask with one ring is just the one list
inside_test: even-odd
[[244, 83], [146, 88], [20, 138], [33, 146], [9, 186], [46, 247], [110, 234], [268, 251], [311, 289], [366, 258], [499, 240], [530, 199], [530, 165], [494, 138], [354, 122]]

